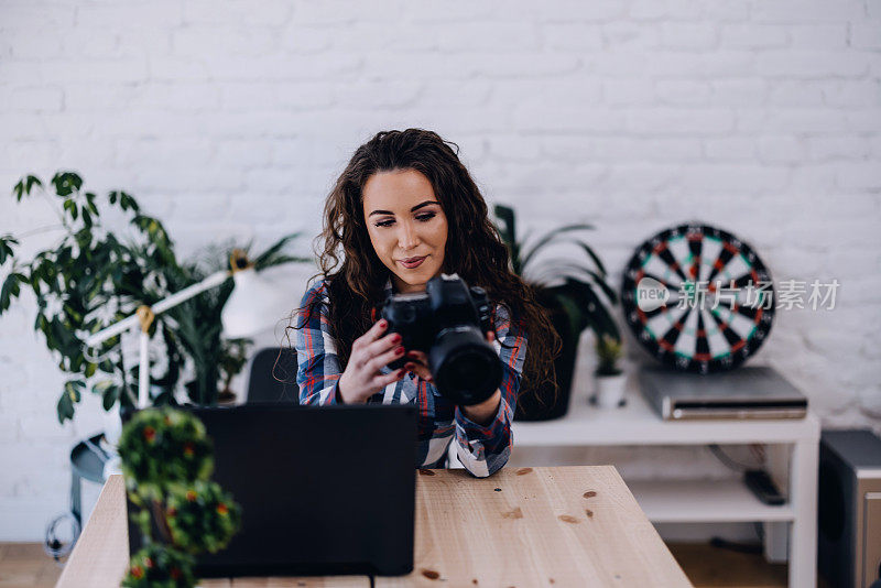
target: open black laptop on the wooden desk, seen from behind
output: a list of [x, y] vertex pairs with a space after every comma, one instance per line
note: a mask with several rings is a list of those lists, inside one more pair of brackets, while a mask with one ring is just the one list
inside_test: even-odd
[[[189, 410], [214, 440], [211, 478], [242, 508], [227, 548], [197, 558], [199, 576], [413, 570], [415, 406]], [[131, 553], [140, 538], [130, 522]]]

